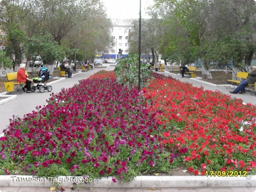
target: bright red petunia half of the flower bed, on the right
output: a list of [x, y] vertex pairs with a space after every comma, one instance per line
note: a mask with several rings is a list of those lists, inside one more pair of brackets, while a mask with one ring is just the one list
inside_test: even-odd
[[143, 89], [150, 101], [147, 108], [158, 111], [158, 123], [166, 125], [163, 144], [174, 154], [183, 153], [191, 173], [256, 173], [255, 106], [163, 75], [154, 76], [156, 79]]

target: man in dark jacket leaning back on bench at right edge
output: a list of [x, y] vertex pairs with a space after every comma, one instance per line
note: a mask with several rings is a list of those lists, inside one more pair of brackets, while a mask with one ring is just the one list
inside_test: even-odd
[[245, 87], [248, 86], [249, 84], [254, 84], [256, 82], [256, 66], [252, 66], [252, 71], [248, 73], [248, 77], [241, 81], [241, 83], [237, 86], [237, 88], [234, 91], [231, 91], [229, 93], [231, 94], [244, 94]]

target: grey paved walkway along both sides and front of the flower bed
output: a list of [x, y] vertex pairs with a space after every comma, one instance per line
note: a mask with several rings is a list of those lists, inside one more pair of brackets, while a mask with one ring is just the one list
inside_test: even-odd
[[[107, 70], [113, 70], [114, 67], [108, 67]], [[52, 84], [53, 87], [53, 93], [60, 92], [63, 88], [69, 88], [72, 87], [74, 84], [78, 83], [79, 80], [88, 78], [92, 74], [96, 73], [98, 70], [101, 69], [94, 69], [87, 72], [81, 72], [75, 75], [74, 78], [65, 78], [61, 81], [58, 81], [54, 84]], [[182, 82], [190, 82], [193, 86], [201, 87], [203, 86], [205, 90], [212, 90], [212, 91], [220, 91], [224, 94], [229, 95], [229, 90], [226, 90], [224, 87], [216, 87], [211, 86], [202, 82], [198, 82], [195, 80], [192, 80], [190, 78], [180, 78], [178, 75], [170, 74], [167, 72], [164, 72], [165, 75], [171, 75], [176, 79], [179, 79]], [[38, 105], [44, 105], [46, 104], [46, 99], [49, 98], [51, 93], [45, 92], [45, 93], [39, 93], [38, 90], [35, 91], [35, 93], [32, 94], [26, 94], [23, 93], [21, 95], [17, 95], [17, 97], [13, 100], [10, 100], [6, 103], [0, 104], [0, 133], [4, 128], [6, 128], [9, 124], [8, 119], [12, 118], [13, 115], [23, 117], [25, 114], [32, 112], [32, 110], [35, 110], [35, 107]], [[251, 96], [250, 94], [244, 94], [244, 95], [232, 95], [237, 98], [243, 99], [243, 102], [245, 103], [253, 103], [256, 105], [256, 96]], [[194, 176], [190, 176], [191, 178], [195, 178]], [[161, 178], [161, 177], [160, 177]], [[172, 181], [172, 177], [169, 177], [169, 182]], [[189, 187], [190, 184], [193, 183], [191, 181], [188, 183], [188, 181], [184, 181], [181, 185], [182, 187], [162, 187], [162, 188], [155, 188], [155, 186], [152, 186], [154, 182], [151, 182], [151, 186], [147, 188], [136, 188], [135, 186], [125, 187], [125, 188], [112, 188], [105, 186], [105, 188], [78, 188], [72, 190], [69, 186], [65, 187], [65, 192], [256, 192], [256, 178], [252, 180], [252, 187], [247, 188], [244, 185], [237, 186], [237, 185], [227, 185], [228, 187], [216, 186], [214, 187]], [[158, 182], [159, 186], [166, 186], [161, 185], [161, 179]], [[168, 184], [168, 181], [167, 181]], [[189, 184], [189, 185], [188, 185]], [[113, 184], [111, 184], [113, 185]], [[156, 185], [157, 186], [157, 185]], [[167, 185], [168, 186], [168, 185]], [[135, 187], [135, 188], [134, 188]], [[152, 188], [153, 187], [153, 188]], [[20, 185], [17, 187], [6, 185], [4, 182], [1, 183], [0, 179], [0, 192], [52, 192], [50, 190], [50, 187], [36, 187], [36, 186], [24, 186]]]

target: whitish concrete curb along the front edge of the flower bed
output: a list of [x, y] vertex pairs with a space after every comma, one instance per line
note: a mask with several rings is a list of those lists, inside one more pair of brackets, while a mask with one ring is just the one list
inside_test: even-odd
[[[85, 181], [88, 181], [85, 183]], [[112, 181], [112, 177], [92, 179], [87, 177], [50, 177], [0, 175], [1, 187], [70, 187], [73, 183], [81, 188], [220, 188], [220, 187], [255, 187], [256, 175], [247, 177], [206, 177], [206, 176], [137, 176], [132, 181], [123, 183]]]

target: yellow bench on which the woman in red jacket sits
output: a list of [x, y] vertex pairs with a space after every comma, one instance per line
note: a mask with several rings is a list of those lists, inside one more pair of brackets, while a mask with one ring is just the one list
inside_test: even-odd
[[[28, 76], [28, 71], [26, 73]], [[8, 82], [4, 82], [4, 87], [7, 95], [11, 94], [14, 90], [18, 92], [22, 91], [22, 88], [26, 85], [26, 83], [17, 82], [17, 72], [6, 73], [6, 77]]]

